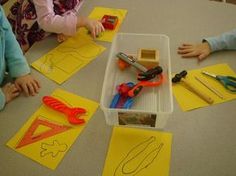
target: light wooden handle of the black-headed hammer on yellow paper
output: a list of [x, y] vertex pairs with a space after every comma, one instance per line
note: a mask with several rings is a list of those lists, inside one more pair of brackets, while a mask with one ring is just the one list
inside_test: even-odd
[[214, 100], [209, 97], [207, 94], [205, 94], [204, 92], [201, 92], [197, 87], [193, 86], [189, 81], [187, 81], [186, 79], [182, 78], [181, 79], [182, 82], [184, 82], [184, 84], [189, 88], [190, 91], [192, 91], [193, 93], [195, 93], [196, 95], [198, 95], [201, 99], [203, 99], [204, 101], [206, 101], [209, 104], [212, 104], [214, 102]]

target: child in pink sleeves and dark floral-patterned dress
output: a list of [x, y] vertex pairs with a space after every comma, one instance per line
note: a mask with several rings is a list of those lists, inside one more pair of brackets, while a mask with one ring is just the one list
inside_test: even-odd
[[84, 0], [17, 0], [11, 7], [8, 20], [21, 48], [26, 52], [36, 41], [50, 33], [58, 40], [73, 36], [77, 28], [86, 27], [95, 38], [104, 31], [101, 22], [78, 16]]

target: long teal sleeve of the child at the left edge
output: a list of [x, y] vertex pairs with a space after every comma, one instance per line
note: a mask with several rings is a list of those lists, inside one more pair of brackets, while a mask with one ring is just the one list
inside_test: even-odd
[[20, 45], [18, 44], [14, 33], [12, 32], [11, 25], [9, 24], [4, 11], [1, 7], [2, 22], [5, 31], [5, 59], [11, 77], [19, 77], [30, 73], [29, 65], [22, 53]]

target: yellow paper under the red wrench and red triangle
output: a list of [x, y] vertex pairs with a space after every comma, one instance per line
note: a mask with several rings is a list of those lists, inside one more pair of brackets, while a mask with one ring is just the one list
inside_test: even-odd
[[[23, 127], [16, 133], [16, 135], [8, 141], [6, 145], [16, 152], [19, 152], [42, 164], [43, 166], [46, 166], [50, 169], [56, 169], [66, 152], [70, 149], [71, 145], [80, 135], [86, 124], [88, 124], [90, 118], [98, 108], [98, 103], [61, 89], [56, 89], [52, 93], [52, 96], [64, 102], [68, 106], [85, 108], [87, 110], [87, 113], [85, 116], [81, 116], [81, 118], [84, 118], [86, 123], [82, 125], [71, 125], [67, 121], [67, 118], [64, 114], [57, 112], [43, 104], [29, 118], [29, 120], [23, 125]], [[16, 149], [17, 144], [20, 142], [22, 137], [25, 135], [25, 132], [29, 129], [32, 122], [36, 118], [43, 118], [49, 122], [56, 122], [57, 124], [70, 126], [71, 128], [62, 133]], [[41, 126], [39, 126], [39, 129], [40, 127]], [[35, 133], [39, 133], [39, 131], [41, 130], [43, 129], [41, 128], [38, 131], [36, 130]]]

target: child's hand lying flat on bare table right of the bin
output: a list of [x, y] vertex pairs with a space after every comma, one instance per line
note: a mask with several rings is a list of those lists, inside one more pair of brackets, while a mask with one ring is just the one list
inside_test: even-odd
[[207, 42], [201, 44], [182, 44], [178, 48], [178, 54], [183, 58], [197, 57], [199, 61], [205, 59], [211, 53], [210, 46]]

